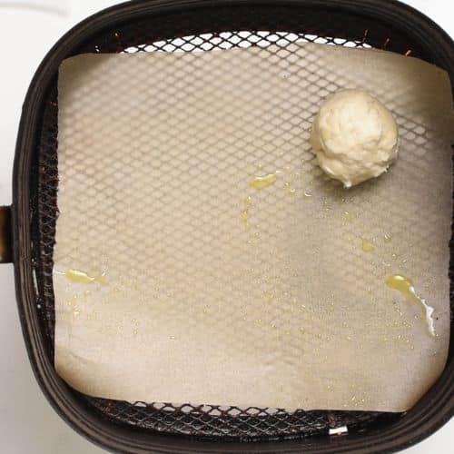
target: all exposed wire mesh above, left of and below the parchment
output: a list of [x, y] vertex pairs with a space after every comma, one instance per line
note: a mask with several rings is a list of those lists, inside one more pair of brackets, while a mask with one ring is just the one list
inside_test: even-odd
[[[295, 41], [311, 41], [322, 44], [345, 45], [350, 47], [374, 46], [390, 48], [396, 52], [414, 55], [422, 54], [418, 49], [409, 48], [405, 37], [392, 35], [390, 30], [375, 26], [375, 33], [361, 25], [355, 32], [346, 32], [345, 18], [331, 14], [323, 16], [322, 27], [307, 25], [304, 15], [288, 15], [281, 11], [270, 11], [261, 21], [251, 15], [231, 11], [218, 11], [214, 18], [205, 15], [198, 33], [188, 34], [186, 21], [191, 16], [159, 18], [158, 21], [144, 20], [143, 23], [125, 25], [110, 30], [87, 43], [79, 50], [83, 52], [204, 52], [212, 49], [268, 46], [277, 44], [281, 48]], [[232, 20], [234, 22], [232, 22]], [[314, 24], [321, 17], [314, 13]], [[350, 22], [350, 21], [348, 21]], [[237, 25], [238, 32], [228, 31], [231, 24]], [[180, 24], [180, 26], [177, 26]], [[258, 31], [267, 29], [285, 30]], [[206, 30], [227, 30], [219, 33]], [[152, 32], [153, 30], [153, 32]], [[337, 34], [347, 37], [335, 37]], [[173, 36], [166, 39], [165, 36]], [[390, 38], [392, 35], [392, 38]], [[180, 37], [174, 37], [180, 36]], [[326, 37], [331, 36], [331, 37]], [[79, 53], [77, 52], [77, 53]], [[69, 55], [68, 55], [69, 56]], [[44, 106], [42, 133], [35, 156], [34, 192], [31, 198], [34, 271], [36, 281], [36, 304], [40, 314], [44, 336], [48, 339], [49, 354], [53, 356], [54, 335], [54, 291], [52, 282], [54, 227], [56, 219], [57, 192], [57, 99], [56, 81], [48, 94]], [[175, 407], [170, 403], [145, 404], [115, 400], [94, 399], [78, 394], [89, 406], [100, 411], [105, 417], [117, 423], [126, 423], [138, 428], [187, 434], [216, 439], [275, 439], [307, 437], [327, 434], [328, 429], [347, 425], [350, 431], [371, 429], [383, 423], [390, 423], [400, 415], [376, 412], [303, 411], [288, 413], [284, 410], [250, 408], [223, 408], [219, 406], [183, 405]]]

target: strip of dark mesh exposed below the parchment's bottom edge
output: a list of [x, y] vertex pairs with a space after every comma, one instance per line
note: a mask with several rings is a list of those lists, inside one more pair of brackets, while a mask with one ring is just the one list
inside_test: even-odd
[[171, 403], [125, 403], [118, 400], [91, 399], [90, 403], [114, 419], [144, 429], [186, 435], [204, 435], [216, 439], [279, 439], [326, 434], [328, 429], [348, 426], [349, 430], [378, 427], [381, 422], [400, 416], [361, 411], [303, 411], [251, 407], [220, 407]]

